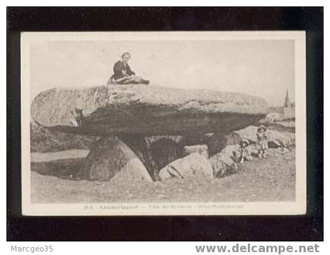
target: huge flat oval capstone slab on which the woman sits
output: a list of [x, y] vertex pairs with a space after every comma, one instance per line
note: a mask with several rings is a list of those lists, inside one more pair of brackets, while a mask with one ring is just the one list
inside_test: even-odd
[[31, 116], [52, 130], [80, 135], [184, 135], [230, 132], [268, 113], [265, 100], [242, 93], [154, 85], [46, 90]]

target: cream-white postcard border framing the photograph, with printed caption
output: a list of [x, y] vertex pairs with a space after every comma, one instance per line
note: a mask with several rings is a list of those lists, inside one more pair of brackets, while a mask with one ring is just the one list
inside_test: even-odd
[[[32, 204], [30, 54], [41, 41], [294, 40], [296, 100], [296, 201], [224, 203]], [[24, 215], [294, 215], [306, 213], [306, 36], [304, 31], [246, 32], [24, 32], [21, 33], [21, 194]]]

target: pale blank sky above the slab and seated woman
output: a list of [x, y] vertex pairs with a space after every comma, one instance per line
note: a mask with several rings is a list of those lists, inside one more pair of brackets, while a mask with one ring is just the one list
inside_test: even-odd
[[105, 85], [121, 53], [150, 85], [294, 100], [294, 41], [45, 41], [31, 46], [31, 100], [50, 88]]

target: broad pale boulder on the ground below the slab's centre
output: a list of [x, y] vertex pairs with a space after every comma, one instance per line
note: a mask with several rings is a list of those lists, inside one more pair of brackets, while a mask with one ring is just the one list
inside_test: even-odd
[[214, 177], [211, 163], [198, 153], [192, 153], [182, 159], [171, 162], [159, 172], [159, 176], [161, 180], [171, 177], [179, 179], [187, 177]]

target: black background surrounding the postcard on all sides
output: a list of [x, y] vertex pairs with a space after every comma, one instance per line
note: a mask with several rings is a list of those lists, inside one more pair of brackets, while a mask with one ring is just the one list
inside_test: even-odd
[[[307, 214], [269, 217], [21, 215], [22, 31], [306, 31]], [[323, 241], [323, 8], [7, 8], [8, 241]], [[219, 235], [221, 232], [221, 235]]]

